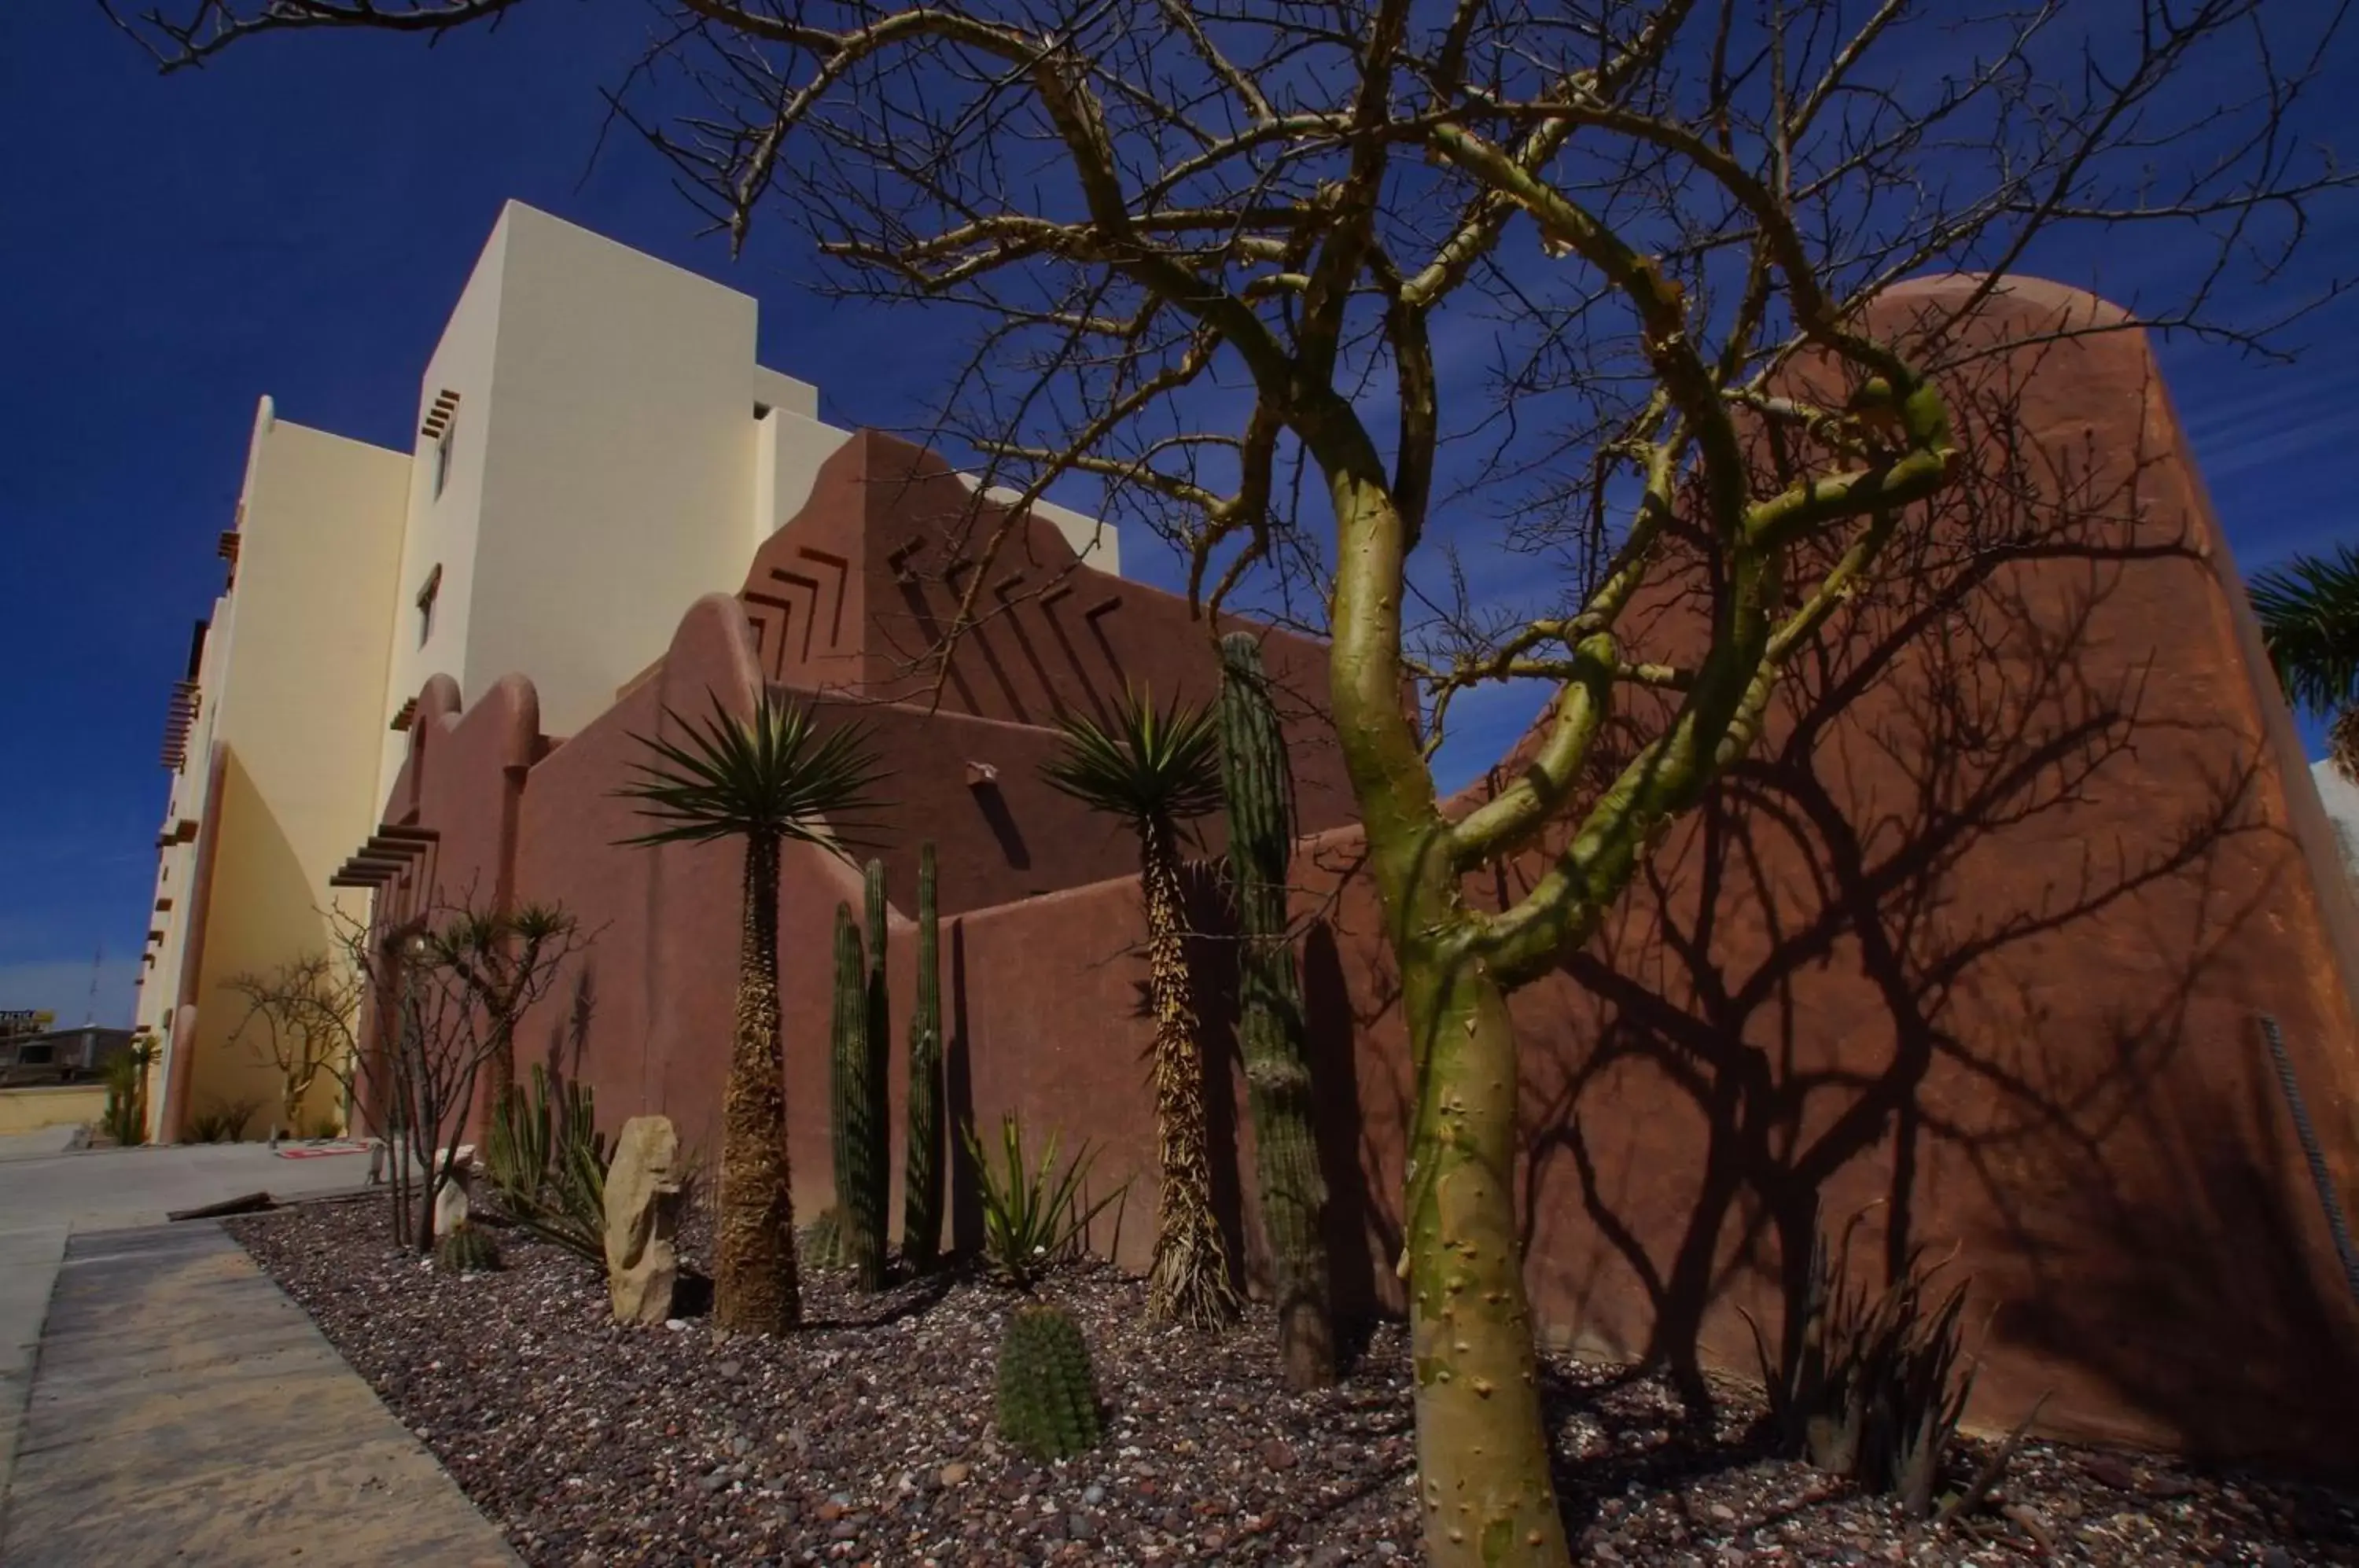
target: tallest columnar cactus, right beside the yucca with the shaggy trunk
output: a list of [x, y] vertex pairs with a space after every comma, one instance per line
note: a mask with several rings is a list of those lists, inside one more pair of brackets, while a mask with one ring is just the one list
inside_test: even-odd
[[1326, 1179], [1312, 1137], [1312, 1075], [1302, 983], [1286, 927], [1293, 856], [1293, 773], [1269, 700], [1260, 644], [1220, 639], [1220, 771], [1229, 802], [1229, 870], [1236, 877], [1238, 1012], [1246, 1099], [1253, 1111], [1262, 1231], [1279, 1297], [1279, 1361], [1295, 1389], [1335, 1382], [1328, 1299]]

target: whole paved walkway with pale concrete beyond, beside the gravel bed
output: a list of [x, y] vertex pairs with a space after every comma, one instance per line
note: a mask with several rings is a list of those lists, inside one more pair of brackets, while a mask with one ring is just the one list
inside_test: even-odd
[[363, 1160], [0, 1151], [0, 1563], [514, 1566], [243, 1247], [156, 1224], [349, 1188]]

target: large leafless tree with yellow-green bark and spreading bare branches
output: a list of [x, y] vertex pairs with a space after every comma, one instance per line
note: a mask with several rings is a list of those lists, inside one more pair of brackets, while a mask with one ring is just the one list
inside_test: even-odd
[[[172, 68], [269, 31], [434, 33], [514, 2], [182, 0], [125, 26]], [[1507, 995], [1597, 931], [1753, 747], [1781, 670], [1923, 526], [1967, 460], [1939, 380], [1967, 354], [1956, 325], [2005, 274], [2083, 229], [2175, 264], [2121, 318], [2057, 332], [2260, 344], [2276, 325], [2250, 299], [2210, 307], [2225, 278], [2269, 281], [2309, 203], [2347, 184], [2295, 134], [2335, 14], [670, 12], [613, 101], [719, 229], [743, 241], [776, 210], [840, 290], [967, 311], [979, 347], [944, 429], [986, 479], [1033, 500], [1095, 476], [1109, 516], [1180, 547], [1191, 601], [1330, 634], [1328, 710], [1415, 1059], [1401, 1273], [1425, 1547], [1566, 1561], [1514, 1245]], [[1939, 269], [1982, 283], [1908, 342], [1866, 330], [1868, 299]], [[972, 575], [939, 568], [960, 604], [946, 644], [1021, 538], [1014, 512], [977, 507], [967, 528], [951, 566]], [[1701, 630], [1640, 646], [1630, 608], [1665, 582], [1701, 587]], [[1451, 821], [1444, 722], [1512, 681], [1548, 693], [1540, 726], [1510, 783]], [[1647, 733], [1606, 757], [1632, 717]], [[1517, 856], [1540, 870], [1503, 908], [1463, 896]]]

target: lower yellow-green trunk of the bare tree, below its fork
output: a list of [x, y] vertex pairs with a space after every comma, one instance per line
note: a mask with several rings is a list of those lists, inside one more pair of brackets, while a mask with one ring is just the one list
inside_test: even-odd
[[1404, 1236], [1425, 1559], [1569, 1563], [1514, 1224], [1507, 997], [1479, 964], [1401, 943], [1401, 1007], [1420, 1061]]

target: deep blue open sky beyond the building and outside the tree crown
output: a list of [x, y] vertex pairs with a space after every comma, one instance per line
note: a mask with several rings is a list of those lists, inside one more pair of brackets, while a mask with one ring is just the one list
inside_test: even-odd
[[[2288, 9], [2309, 0], [2286, 0]], [[922, 422], [948, 363], [908, 314], [821, 309], [800, 257], [731, 264], [602, 101], [649, 12], [521, 7], [495, 33], [309, 35], [158, 80], [75, 0], [0, 14], [0, 1007], [125, 1021], [146, 929], [165, 693], [219, 587], [255, 398], [408, 443], [418, 375], [505, 198], [762, 299], [762, 358], [837, 424]], [[2345, 203], [2295, 285], [2359, 255]], [[2085, 276], [2154, 264], [2085, 255]], [[2111, 269], [2111, 271], [2109, 271]], [[2359, 493], [2359, 302], [2293, 368], [2166, 344], [2173, 394], [2246, 571], [2342, 538]], [[1132, 571], [1170, 580], [1137, 540]], [[1512, 733], [1519, 714], [1500, 712]]]

